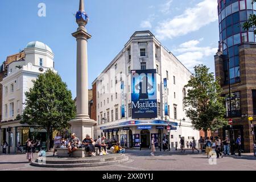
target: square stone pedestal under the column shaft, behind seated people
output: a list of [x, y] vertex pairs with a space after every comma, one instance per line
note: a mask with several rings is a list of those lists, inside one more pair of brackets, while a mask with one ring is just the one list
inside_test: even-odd
[[71, 124], [71, 132], [76, 134], [76, 137], [81, 141], [86, 137], [87, 134], [90, 135], [90, 138], [93, 137], [93, 126], [96, 125], [96, 121], [90, 119], [89, 117], [76, 117], [72, 119]]

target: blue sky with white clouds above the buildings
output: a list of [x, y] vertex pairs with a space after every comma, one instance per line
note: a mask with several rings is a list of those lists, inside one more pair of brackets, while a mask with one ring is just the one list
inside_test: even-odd
[[[39, 17], [39, 3], [46, 17]], [[40, 41], [55, 53], [55, 69], [76, 96], [75, 16], [79, 0], [1, 0], [0, 61]], [[92, 39], [88, 44], [89, 86], [121, 51], [134, 31], [150, 30], [183, 64], [214, 72], [218, 47], [217, 0], [85, 0]]]

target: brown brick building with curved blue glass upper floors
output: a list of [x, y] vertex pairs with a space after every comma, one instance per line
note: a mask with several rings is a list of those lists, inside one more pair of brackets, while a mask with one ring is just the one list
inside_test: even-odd
[[[251, 0], [218, 0], [218, 17], [222, 55], [214, 56], [216, 78], [220, 78], [222, 94], [229, 97], [232, 92], [232, 119], [234, 139], [241, 135], [242, 150], [253, 152], [252, 127], [249, 115], [256, 117], [256, 44], [254, 28], [243, 29], [243, 23], [251, 14], [255, 14], [255, 3]], [[228, 68], [229, 55], [229, 68]], [[229, 73], [229, 75], [228, 75]], [[230, 118], [229, 100], [226, 99], [226, 118]], [[218, 135], [233, 138], [232, 127], [218, 130]]]

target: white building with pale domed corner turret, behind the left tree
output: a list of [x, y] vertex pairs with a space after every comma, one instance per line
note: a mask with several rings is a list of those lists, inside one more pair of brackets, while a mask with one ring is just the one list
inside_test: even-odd
[[[25, 92], [32, 88], [32, 80], [36, 80], [39, 74], [46, 72], [47, 69], [54, 71], [54, 55], [46, 44], [28, 43], [24, 53], [24, 60], [14, 61], [8, 65], [7, 76], [1, 81], [3, 86], [1, 129], [3, 132], [3, 129], [11, 127], [11, 133], [6, 133], [7, 143], [12, 144], [10, 152], [15, 151], [18, 142], [24, 143], [22, 126], [25, 125], [20, 125], [16, 117], [23, 113]], [[3, 138], [2, 134], [1, 138]]]

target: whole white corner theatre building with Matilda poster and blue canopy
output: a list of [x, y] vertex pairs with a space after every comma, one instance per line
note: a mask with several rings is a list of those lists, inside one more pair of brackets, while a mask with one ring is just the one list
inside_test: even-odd
[[[195, 137], [183, 98], [191, 72], [150, 31], [137, 31], [92, 83], [94, 138], [105, 135], [125, 147], [170, 147]], [[95, 111], [96, 110], [96, 111]]]

